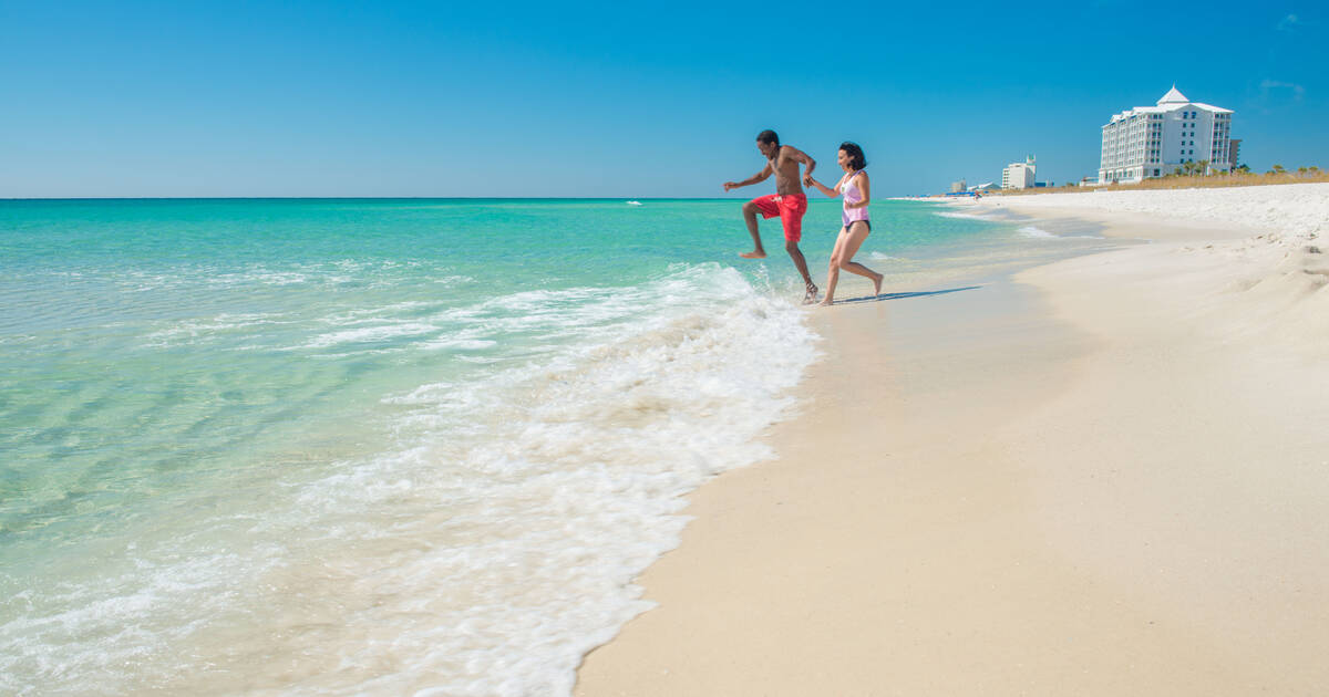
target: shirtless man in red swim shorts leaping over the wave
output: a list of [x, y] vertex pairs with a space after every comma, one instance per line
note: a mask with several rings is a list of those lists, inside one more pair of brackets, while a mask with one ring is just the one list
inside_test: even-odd
[[793, 266], [797, 267], [799, 273], [803, 273], [803, 283], [807, 284], [807, 295], [803, 296], [803, 301], [815, 303], [817, 299], [817, 287], [812, 283], [812, 276], [808, 273], [808, 262], [803, 258], [803, 251], [799, 250], [799, 240], [803, 238], [803, 214], [808, 212], [808, 196], [803, 193], [803, 187], [799, 186], [799, 163], [801, 162], [808, 167], [804, 177], [811, 177], [817, 163], [792, 145], [781, 146], [780, 137], [773, 130], [759, 133], [756, 135], [756, 147], [767, 159], [766, 167], [762, 167], [762, 171], [742, 182], [724, 182], [724, 190], [730, 191], [740, 186], [764, 182], [772, 174], [775, 175], [775, 194], [758, 196], [743, 204], [743, 219], [747, 222], [748, 234], [752, 235], [754, 250], [743, 252], [739, 256], [743, 259], [766, 258], [766, 250], [762, 247], [762, 235], [758, 234], [756, 228], [756, 214], [760, 212], [763, 218], [775, 218], [779, 215], [780, 223], [784, 227], [784, 251], [789, 252]]

